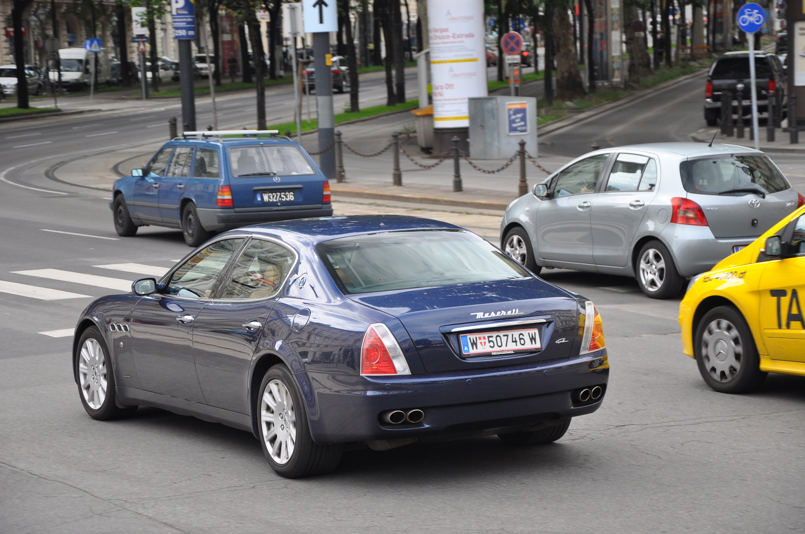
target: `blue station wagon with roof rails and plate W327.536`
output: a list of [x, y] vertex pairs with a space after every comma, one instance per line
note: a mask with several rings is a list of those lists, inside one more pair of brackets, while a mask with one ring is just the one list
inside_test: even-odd
[[332, 215], [327, 178], [273, 130], [185, 132], [115, 182], [112, 198], [119, 236], [155, 224], [181, 228], [192, 247], [246, 224]]

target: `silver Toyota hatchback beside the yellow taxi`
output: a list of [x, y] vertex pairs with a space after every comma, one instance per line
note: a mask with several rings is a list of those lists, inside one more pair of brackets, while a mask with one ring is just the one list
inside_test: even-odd
[[805, 203], [766, 154], [651, 143], [584, 154], [510, 203], [501, 246], [534, 273], [636, 277], [671, 298]]

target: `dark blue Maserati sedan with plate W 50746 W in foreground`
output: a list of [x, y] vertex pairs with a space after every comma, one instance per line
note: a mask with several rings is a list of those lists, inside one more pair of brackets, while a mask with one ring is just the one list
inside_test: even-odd
[[609, 377], [592, 302], [410, 216], [225, 232], [90, 304], [72, 365], [90, 417], [217, 421], [254, 433], [285, 477], [332, 470], [345, 447], [555, 442]]

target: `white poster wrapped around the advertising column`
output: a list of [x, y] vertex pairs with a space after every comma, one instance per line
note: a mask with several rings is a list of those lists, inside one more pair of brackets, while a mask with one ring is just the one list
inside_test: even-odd
[[469, 126], [470, 97], [486, 97], [483, 0], [427, 0], [434, 128]]

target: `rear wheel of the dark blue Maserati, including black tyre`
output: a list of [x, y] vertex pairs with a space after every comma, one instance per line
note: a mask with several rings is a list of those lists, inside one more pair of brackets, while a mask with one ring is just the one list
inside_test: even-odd
[[313, 442], [302, 395], [282, 364], [270, 368], [260, 384], [258, 428], [263, 454], [283, 477], [328, 473], [341, 462], [340, 444]]

